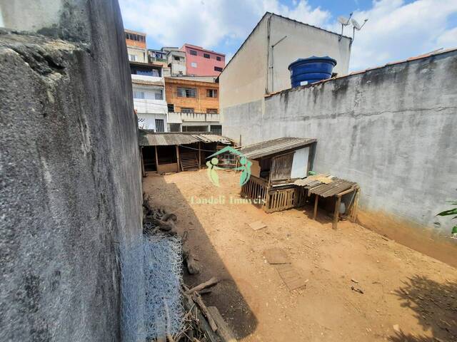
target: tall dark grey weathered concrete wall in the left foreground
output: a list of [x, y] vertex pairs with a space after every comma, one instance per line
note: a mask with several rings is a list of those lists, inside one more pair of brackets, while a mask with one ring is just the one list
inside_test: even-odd
[[[7, 2], [34, 1], [1, 1], [4, 19]], [[121, 312], [137, 321], [141, 279], [122, 269], [136, 287], [121, 284], [121, 267], [141, 177], [119, 5], [36, 4], [57, 2], [34, 31], [73, 42], [0, 31], [0, 341], [135, 341]]]

